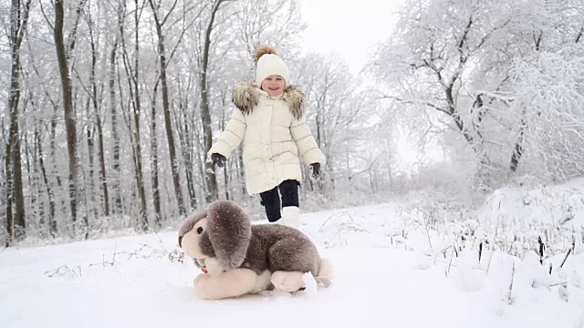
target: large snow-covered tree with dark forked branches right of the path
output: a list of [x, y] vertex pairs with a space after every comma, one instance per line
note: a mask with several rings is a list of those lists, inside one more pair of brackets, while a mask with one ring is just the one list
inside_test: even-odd
[[579, 13], [575, 1], [408, 1], [370, 71], [383, 85], [381, 97], [410, 113], [424, 111], [426, 128], [442, 129], [450, 156], [474, 163], [475, 187], [490, 190], [521, 160], [516, 141], [522, 133], [511, 108], [516, 63], [575, 44]]

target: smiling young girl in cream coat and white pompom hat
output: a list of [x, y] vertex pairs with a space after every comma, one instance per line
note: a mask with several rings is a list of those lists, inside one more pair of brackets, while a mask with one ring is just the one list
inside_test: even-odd
[[274, 48], [264, 46], [255, 53], [255, 65], [255, 82], [235, 86], [237, 109], [209, 155], [223, 167], [243, 141], [247, 192], [260, 195], [267, 220], [298, 227], [302, 179], [298, 155], [310, 166], [314, 179], [325, 158], [306, 122], [304, 93], [290, 85], [286, 63]]

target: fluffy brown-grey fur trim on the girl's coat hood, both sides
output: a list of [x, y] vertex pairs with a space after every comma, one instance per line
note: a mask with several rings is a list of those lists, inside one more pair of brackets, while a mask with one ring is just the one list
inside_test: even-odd
[[[239, 82], [234, 87], [232, 101], [236, 108], [239, 108], [244, 115], [248, 115], [252, 113], [255, 106], [259, 103], [262, 94], [266, 94], [266, 92], [255, 86], [254, 83]], [[286, 87], [281, 99], [287, 103], [288, 108], [290, 108], [290, 113], [294, 118], [300, 119], [304, 116], [305, 95], [300, 88], [294, 86]]]

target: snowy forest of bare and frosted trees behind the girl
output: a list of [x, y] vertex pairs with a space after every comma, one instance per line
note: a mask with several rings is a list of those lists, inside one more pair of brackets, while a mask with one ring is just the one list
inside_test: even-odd
[[359, 74], [307, 51], [300, 5], [3, 2], [2, 244], [159, 231], [217, 199], [259, 208], [241, 151], [214, 168], [207, 150], [264, 45], [305, 91], [327, 158], [321, 179], [303, 167], [307, 211], [416, 190], [472, 207], [503, 186], [582, 177], [581, 1], [406, 0]]

